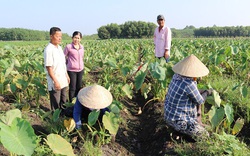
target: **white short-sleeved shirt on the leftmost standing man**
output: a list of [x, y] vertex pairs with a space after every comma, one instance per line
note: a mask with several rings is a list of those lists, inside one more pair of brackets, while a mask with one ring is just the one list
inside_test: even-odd
[[46, 66], [51, 66], [61, 89], [68, 86], [66, 60], [61, 46], [49, 43], [44, 49], [44, 67], [48, 82], [48, 90], [54, 89], [54, 82], [49, 76]]

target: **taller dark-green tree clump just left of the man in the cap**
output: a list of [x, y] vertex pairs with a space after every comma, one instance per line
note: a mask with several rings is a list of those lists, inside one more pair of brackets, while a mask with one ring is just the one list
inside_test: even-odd
[[155, 23], [143, 21], [128, 21], [118, 25], [115, 23], [101, 26], [97, 32], [100, 39], [110, 38], [150, 38], [157, 27]]

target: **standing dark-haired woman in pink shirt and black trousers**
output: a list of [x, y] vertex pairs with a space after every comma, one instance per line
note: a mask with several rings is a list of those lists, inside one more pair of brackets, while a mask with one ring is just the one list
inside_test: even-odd
[[69, 84], [69, 101], [77, 96], [82, 88], [82, 76], [84, 72], [84, 47], [80, 43], [82, 34], [75, 31], [72, 35], [72, 43], [68, 44], [64, 49], [66, 57], [67, 71], [70, 77]]

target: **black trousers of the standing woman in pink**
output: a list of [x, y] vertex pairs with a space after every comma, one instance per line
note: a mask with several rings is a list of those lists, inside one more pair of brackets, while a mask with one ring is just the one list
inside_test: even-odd
[[72, 102], [72, 99], [77, 96], [79, 90], [82, 88], [82, 76], [83, 71], [80, 72], [71, 72], [68, 71], [70, 78], [69, 83], [69, 102]]

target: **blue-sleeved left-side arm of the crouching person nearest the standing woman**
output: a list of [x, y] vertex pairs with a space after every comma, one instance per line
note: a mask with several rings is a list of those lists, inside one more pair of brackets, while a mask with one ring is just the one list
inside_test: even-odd
[[73, 111], [73, 118], [76, 123], [76, 129], [81, 128], [82, 122], [81, 122], [81, 116], [82, 116], [82, 104], [79, 102], [78, 99], [76, 99], [76, 103], [74, 105], [74, 111]]

